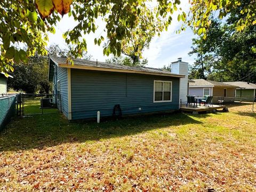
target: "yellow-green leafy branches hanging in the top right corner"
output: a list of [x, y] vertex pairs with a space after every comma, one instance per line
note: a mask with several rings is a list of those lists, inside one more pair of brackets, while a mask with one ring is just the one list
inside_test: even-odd
[[[240, 17], [234, 22], [234, 27], [237, 31], [242, 31], [246, 27], [251, 27], [256, 24], [256, 2], [244, 0], [190, 0], [190, 15], [187, 19], [187, 25], [192, 27], [194, 33], [203, 35], [206, 38], [206, 33], [215, 18], [223, 19], [234, 10], [238, 10]], [[246, 2], [246, 3], [244, 3]]]

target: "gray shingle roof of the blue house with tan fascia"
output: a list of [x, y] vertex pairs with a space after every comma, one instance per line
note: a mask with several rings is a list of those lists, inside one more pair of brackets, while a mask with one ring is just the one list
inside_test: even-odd
[[[62, 64], [60, 67], [68, 67], [67, 65], [67, 58], [60, 58], [60, 57], [50, 57], [50, 59], [57, 65]], [[150, 67], [135, 67], [135, 66], [124, 66], [118, 65], [113, 63], [107, 62], [100, 62], [100, 61], [90, 61], [90, 60], [82, 60], [82, 59], [73, 59], [74, 61], [74, 68], [83, 68], [91, 70], [105, 70], [106, 71], [118, 71], [123, 73], [141, 73], [141, 74], [151, 74], [151, 75], [163, 75], [163, 76], [172, 76], [172, 77], [185, 77], [184, 75], [174, 74], [170, 71], [157, 69], [157, 68], [150, 68]], [[70, 66], [70, 63], [69, 63]], [[70, 67], [70, 68], [73, 68]]]

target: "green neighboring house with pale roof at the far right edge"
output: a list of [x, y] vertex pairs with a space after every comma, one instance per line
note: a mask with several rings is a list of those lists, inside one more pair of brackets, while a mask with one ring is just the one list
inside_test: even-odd
[[239, 98], [256, 98], [256, 84], [247, 82], [224, 82], [229, 85], [235, 85], [239, 88], [236, 89], [236, 97]]

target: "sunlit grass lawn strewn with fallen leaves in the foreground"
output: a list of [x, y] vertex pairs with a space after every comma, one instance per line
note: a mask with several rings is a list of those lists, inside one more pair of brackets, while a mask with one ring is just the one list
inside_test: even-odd
[[68, 123], [15, 118], [0, 133], [0, 190], [255, 191], [256, 113]]

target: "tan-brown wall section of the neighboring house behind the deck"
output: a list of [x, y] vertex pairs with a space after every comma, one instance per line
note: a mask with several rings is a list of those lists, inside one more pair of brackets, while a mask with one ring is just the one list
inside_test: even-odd
[[218, 102], [218, 97], [224, 97], [224, 89], [227, 89], [227, 97], [224, 98], [224, 102], [233, 102], [235, 100], [235, 88], [213, 87], [213, 103]]

